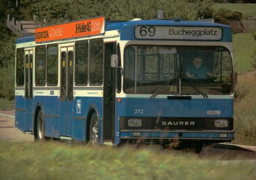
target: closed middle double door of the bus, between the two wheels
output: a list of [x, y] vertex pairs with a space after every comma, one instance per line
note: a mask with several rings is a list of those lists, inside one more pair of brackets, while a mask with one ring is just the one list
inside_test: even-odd
[[74, 47], [61, 48], [60, 135], [73, 136]]

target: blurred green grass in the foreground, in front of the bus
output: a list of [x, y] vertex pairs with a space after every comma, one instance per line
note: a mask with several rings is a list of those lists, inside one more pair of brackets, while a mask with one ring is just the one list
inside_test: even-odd
[[0, 179], [254, 180], [255, 161], [222, 160], [131, 146], [0, 141]]

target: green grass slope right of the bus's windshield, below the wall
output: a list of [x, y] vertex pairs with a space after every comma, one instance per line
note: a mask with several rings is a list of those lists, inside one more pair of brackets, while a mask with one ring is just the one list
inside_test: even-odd
[[253, 49], [256, 49], [256, 41], [251, 33], [233, 34], [234, 62], [237, 72], [254, 69], [250, 64], [253, 62], [251, 57]]

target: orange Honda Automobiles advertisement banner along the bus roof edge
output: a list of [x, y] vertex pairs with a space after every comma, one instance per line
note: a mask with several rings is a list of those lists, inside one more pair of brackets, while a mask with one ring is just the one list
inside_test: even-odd
[[35, 29], [35, 42], [101, 34], [105, 31], [105, 17], [79, 20]]

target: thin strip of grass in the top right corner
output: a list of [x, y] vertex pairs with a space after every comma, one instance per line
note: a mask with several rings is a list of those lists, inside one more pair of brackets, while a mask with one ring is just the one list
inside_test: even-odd
[[256, 3], [216, 3], [213, 8], [225, 8], [231, 11], [239, 11], [244, 17], [256, 17]]

